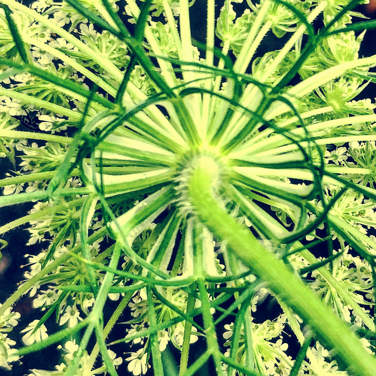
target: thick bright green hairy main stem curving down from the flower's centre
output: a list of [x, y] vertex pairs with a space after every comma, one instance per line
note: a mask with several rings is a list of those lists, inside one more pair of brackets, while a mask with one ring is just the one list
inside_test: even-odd
[[219, 167], [208, 157], [197, 160], [189, 182], [188, 195], [200, 220], [218, 240], [226, 241], [234, 252], [268, 288], [298, 314], [315, 332], [318, 340], [358, 376], [373, 376], [376, 359], [368, 354], [346, 323], [326, 307], [281, 260], [256, 240], [224, 211], [218, 192], [214, 189], [220, 179]]

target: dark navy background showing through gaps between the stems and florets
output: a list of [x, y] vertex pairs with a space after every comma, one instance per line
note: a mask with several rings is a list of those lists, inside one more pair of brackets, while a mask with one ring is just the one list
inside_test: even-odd
[[[21, 1], [21, 0], [20, 0]], [[29, 5], [32, 3], [32, 0], [24, 0], [22, 1], [25, 5]], [[120, 13], [124, 9], [124, 1], [118, 2], [118, 5], [120, 6]], [[219, 15], [219, 11], [221, 7], [223, 6], [223, 1], [217, 1], [216, 5], [216, 18]], [[244, 9], [247, 8], [247, 4], [244, 1], [242, 4], [233, 4], [234, 8], [237, 10], [238, 14], [242, 14]], [[205, 0], [196, 0], [192, 7], [191, 12], [191, 32], [194, 39], [205, 43], [205, 36], [206, 36], [206, 1]], [[364, 8], [362, 6], [359, 6], [356, 11], [364, 12]], [[375, 18], [374, 15], [368, 14], [371, 18]], [[127, 25], [130, 25], [127, 23]], [[320, 21], [318, 21], [317, 27], [320, 27]], [[289, 34], [286, 34], [283, 38], [277, 38], [274, 36], [271, 32], [268, 33], [267, 37], [262, 42], [262, 45], [257, 50], [256, 56], [262, 56], [265, 52], [277, 50], [284, 43], [287, 41], [287, 39], [290, 37]], [[220, 41], [218, 38], [216, 38], [216, 46], [220, 47]], [[376, 53], [376, 38], [375, 38], [375, 32], [374, 31], [368, 31], [365, 34], [364, 41], [362, 43], [360, 56], [371, 56]], [[374, 69], [373, 69], [374, 70]], [[368, 87], [360, 94], [359, 97], [356, 99], [363, 99], [363, 98], [371, 98], [374, 100], [375, 94], [375, 88], [376, 84], [370, 83]], [[23, 126], [20, 126], [19, 130], [27, 130], [27, 128], [23, 129]], [[20, 162], [20, 159], [17, 158]], [[12, 170], [12, 164], [8, 161], [8, 159], [0, 158], [0, 179], [5, 178], [5, 173], [8, 170]], [[17, 218], [22, 217], [23, 215], [27, 214], [27, 211], [29, 211], [32, 208], [32, 203], [25, 203], [20, 205], [14, 205], [9, 206], [5, 208], [0, 209], [0, 226], [3, 224], [8, 223], [9, 221], [15, 220]], [[27, 259], [24, 258], [24, 255], [26, 253], [29, 254], [38, 254], [40, 250], [42, 249], [41, 244], [35, 244], [33, 246], [26, 246], [27, 241], [29, 240], [29, 232], [25, 229], [29, 227], [29, 225], [24, 225], [21, 227], [18, 227], [17, 229], [11, 230], [10, 232], [7, 232], [2, 236], [4, 240], [6, 240], [9, 244], [8, 247], [2, 250], [3, 258], [0, 262], [0, 302], [4, 302], [15, 290], [17, 290], [17, 284], [21, 280], [23, 280], [23, 273], [25, 270], [21, 268], [21, 265], [24, 265], [27, 263]], [[317, 250], [318, 253], [320, 253], [320, 250]], [[318, 255], [319, 256], [319, 255]], [[28, 295], [23, 296], [18, 302], [16, 302], [14, 306], [14, 311], [18, 311], [21, 313], [21, 319], [18, 324], [18, 326], [15, 328], [15, 330], [9, 334], [9, 337], [17, 341], [17, 346], [21, 346], [21, 335], [18, 334], [18, 332], [27, 326], [31, 321], [35, 320], [36, 318], [41, 317], [41, 312], [39, 309], [33, 309], [32, 308], [32, 299], [28, 297]], [[112, 314], [114, 309], [117, 306], [117, 302], [108, 301], [106, 304], [106, 311], [105, 314], [105, 320], [109, 318], [109, 316]], [[225, 307], [226, 308], [226, 307]], [[262, 303], [258, 307], [258, 311], [256, 312], [255, 321], [264, 321], [266, 318], [269, 318], [273, 320], [273, 318], [276, 318], [280, 314], [280, 308], [276, 304], [276, 301], [273, 298], [266, 299], [264, 303]], [[125, 312], [123, 317], [121, 318], [121, 321], [126, 321], [129, 318], [129, 312]], [[231, 319], [227, 320], [229, 323]], [[197, 321], [199, 323], [199, 321]], [[224, 322], [226, 323], [226, 322]], [[200, 323], [202, 324], [202, 323]], [[48, 332], [53, 333], [56, 330], [58, 330], [58, 325], [53, 321], [53, 319], [47, 320], [45, 323]], [[125, 326], [118, 326], [118, 330], [113, 331], [109, 336], [109, 341], [115, 340], [121, 337], [121, 335], [125, 332]], [[285, 340], [289, 343], [289, 349], [287, 351], [288, 355], [293, 356], [293, 358], [296, 356], [296, 353], [299, 349], [298, 344], [296, 343], [294, 336], [290, 337], [292, 334], [289, 330], [288, 326], [285, 327]], [[218, 339], [220, 341], [223, 340], [222, 334], [223, 330], [218, 332]], [[89, 345], [93, 346], [94, 341]], [[189, 363], [193, 362], [195, 359], [197, 359], [202, 352], [205, 350], [206, 344], [205, 339], [202, 337], [199, 337], [199, 341], [197, 341], [194, 345], [191, 346], [191, 352], [190, 352], [190, 359]], [[118, 345], [111, 347], [112, 350], [114, 350], [117, 353], [117, 356], [122, 356], [123, 359], [126, 358], [129, 355], [124, 355], [123, 352], [129, 352], [132, 351], [127, 345]], [[136, 351], [136, 348], [135, 350]], [[176, 349], [173, 349], [171, 346], [168, 347], [168, 351], [170, 351], [170, 354], [172, 353], [173, 357], [177, 358], [179, 357], [179, 353]], [[168, 351], [165, 352], [165, 355]], [[37, 354], [31, 354], [24, 356], [21, 359], [21, 362], [16, 362], [13, 365], [13, 369], [9, 372], [0, 369], [0, 375], [9, 375], [9, 376], [22, 376], [24, 374], [29, 373], [29, 369], [32, 368], [39, 368], [39, 369], [46, 369], [46, 370], [53, 370], [56, 364], [60, 364], [62, 362], [61, 359], [61, 353], [59, 353], [56, 350], [56, 345], [51, 346], [49, 349], [45, 349]], [[167, 361], [167, 359], [165, 359]], [[97, 365], [98, 367], [100, 365]], [[127, 362], [123, 361], [123, 364], [120, 365], [118, 369], [119, 375], [127, 375], [129, 374], [127, 369]], [[197, 372], [197, 375], [199, 374], [207, 374], [207, 375], [214, 375], [214, 365], [209, 362], [209, 364], [204, 365], [199, 372]], [[148, 375], [152, 374], [152, 370], [149, 370], [147, 372]]]

